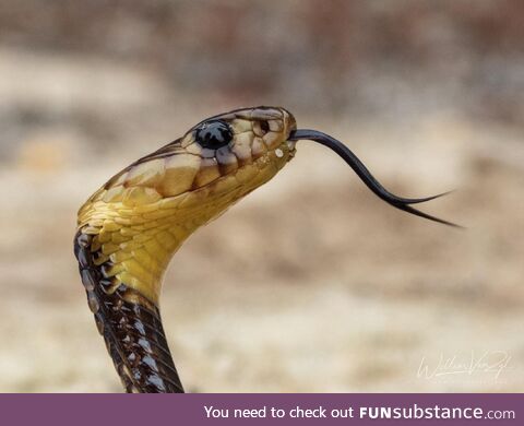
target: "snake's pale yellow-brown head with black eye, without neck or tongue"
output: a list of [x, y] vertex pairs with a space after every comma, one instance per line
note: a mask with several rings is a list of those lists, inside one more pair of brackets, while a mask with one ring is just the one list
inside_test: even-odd
[[139, 188], [138, 203], [186, 198], [186, 206], [199, 204], [202, 211], [214, 204], [222, 210], [293, 158], [295, 142], [288, 139], [295, 130], [295, 118], [284, 108], [245, 108], [211, 117], [112, 177], [104, 201], [128, 199], [132, 204], [122, 188]]

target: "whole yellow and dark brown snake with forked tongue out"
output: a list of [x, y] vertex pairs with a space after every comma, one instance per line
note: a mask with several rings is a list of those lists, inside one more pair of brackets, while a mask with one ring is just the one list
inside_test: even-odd
[[111, 177], [78, 213], [74, 255], [81, 281], [126, 392], [184, 392], [159, 310], [170, 259], [195, 229], [278, 174], [300, 140], [334, 151], [392, 206], [458, 226], [413, 206], [446, 192], [394, 196], [345, 144], [297, 129], [285, 108], [241, 108], [202, 120]]

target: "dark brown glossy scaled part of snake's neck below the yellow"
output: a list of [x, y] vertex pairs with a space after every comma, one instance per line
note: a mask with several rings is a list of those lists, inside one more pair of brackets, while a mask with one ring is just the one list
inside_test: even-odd
[[183, 393], [158, 308], [126, 284], [120, 284], [109, 294], [115, 283], [112, 277], [107, 276], [111, 264], [94, 264], [99, 253], [91, 252], [92, 240], [93, 236], [82, 230], [76, 233], [74, 253], [90, 309], [126, 391]]

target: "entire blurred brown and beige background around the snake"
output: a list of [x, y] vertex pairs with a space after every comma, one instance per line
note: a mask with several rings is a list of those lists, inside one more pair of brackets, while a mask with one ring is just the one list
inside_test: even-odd
[[0, 391], [119, 392], [72, 253], [111, 175], [279, 105], [300, 142], [163, 296], [189, 391], [524, 391], [524, 2], [0, 0]]

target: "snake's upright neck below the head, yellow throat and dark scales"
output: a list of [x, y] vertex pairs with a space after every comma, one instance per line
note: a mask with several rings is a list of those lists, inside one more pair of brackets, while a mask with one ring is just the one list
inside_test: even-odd
[[95, 194], [79, 215], [82, 282], [127, 392], [183, 392], [158, 301], [169, 260], [199, 221], [174, 223], [172, 204], [107, 203]]

